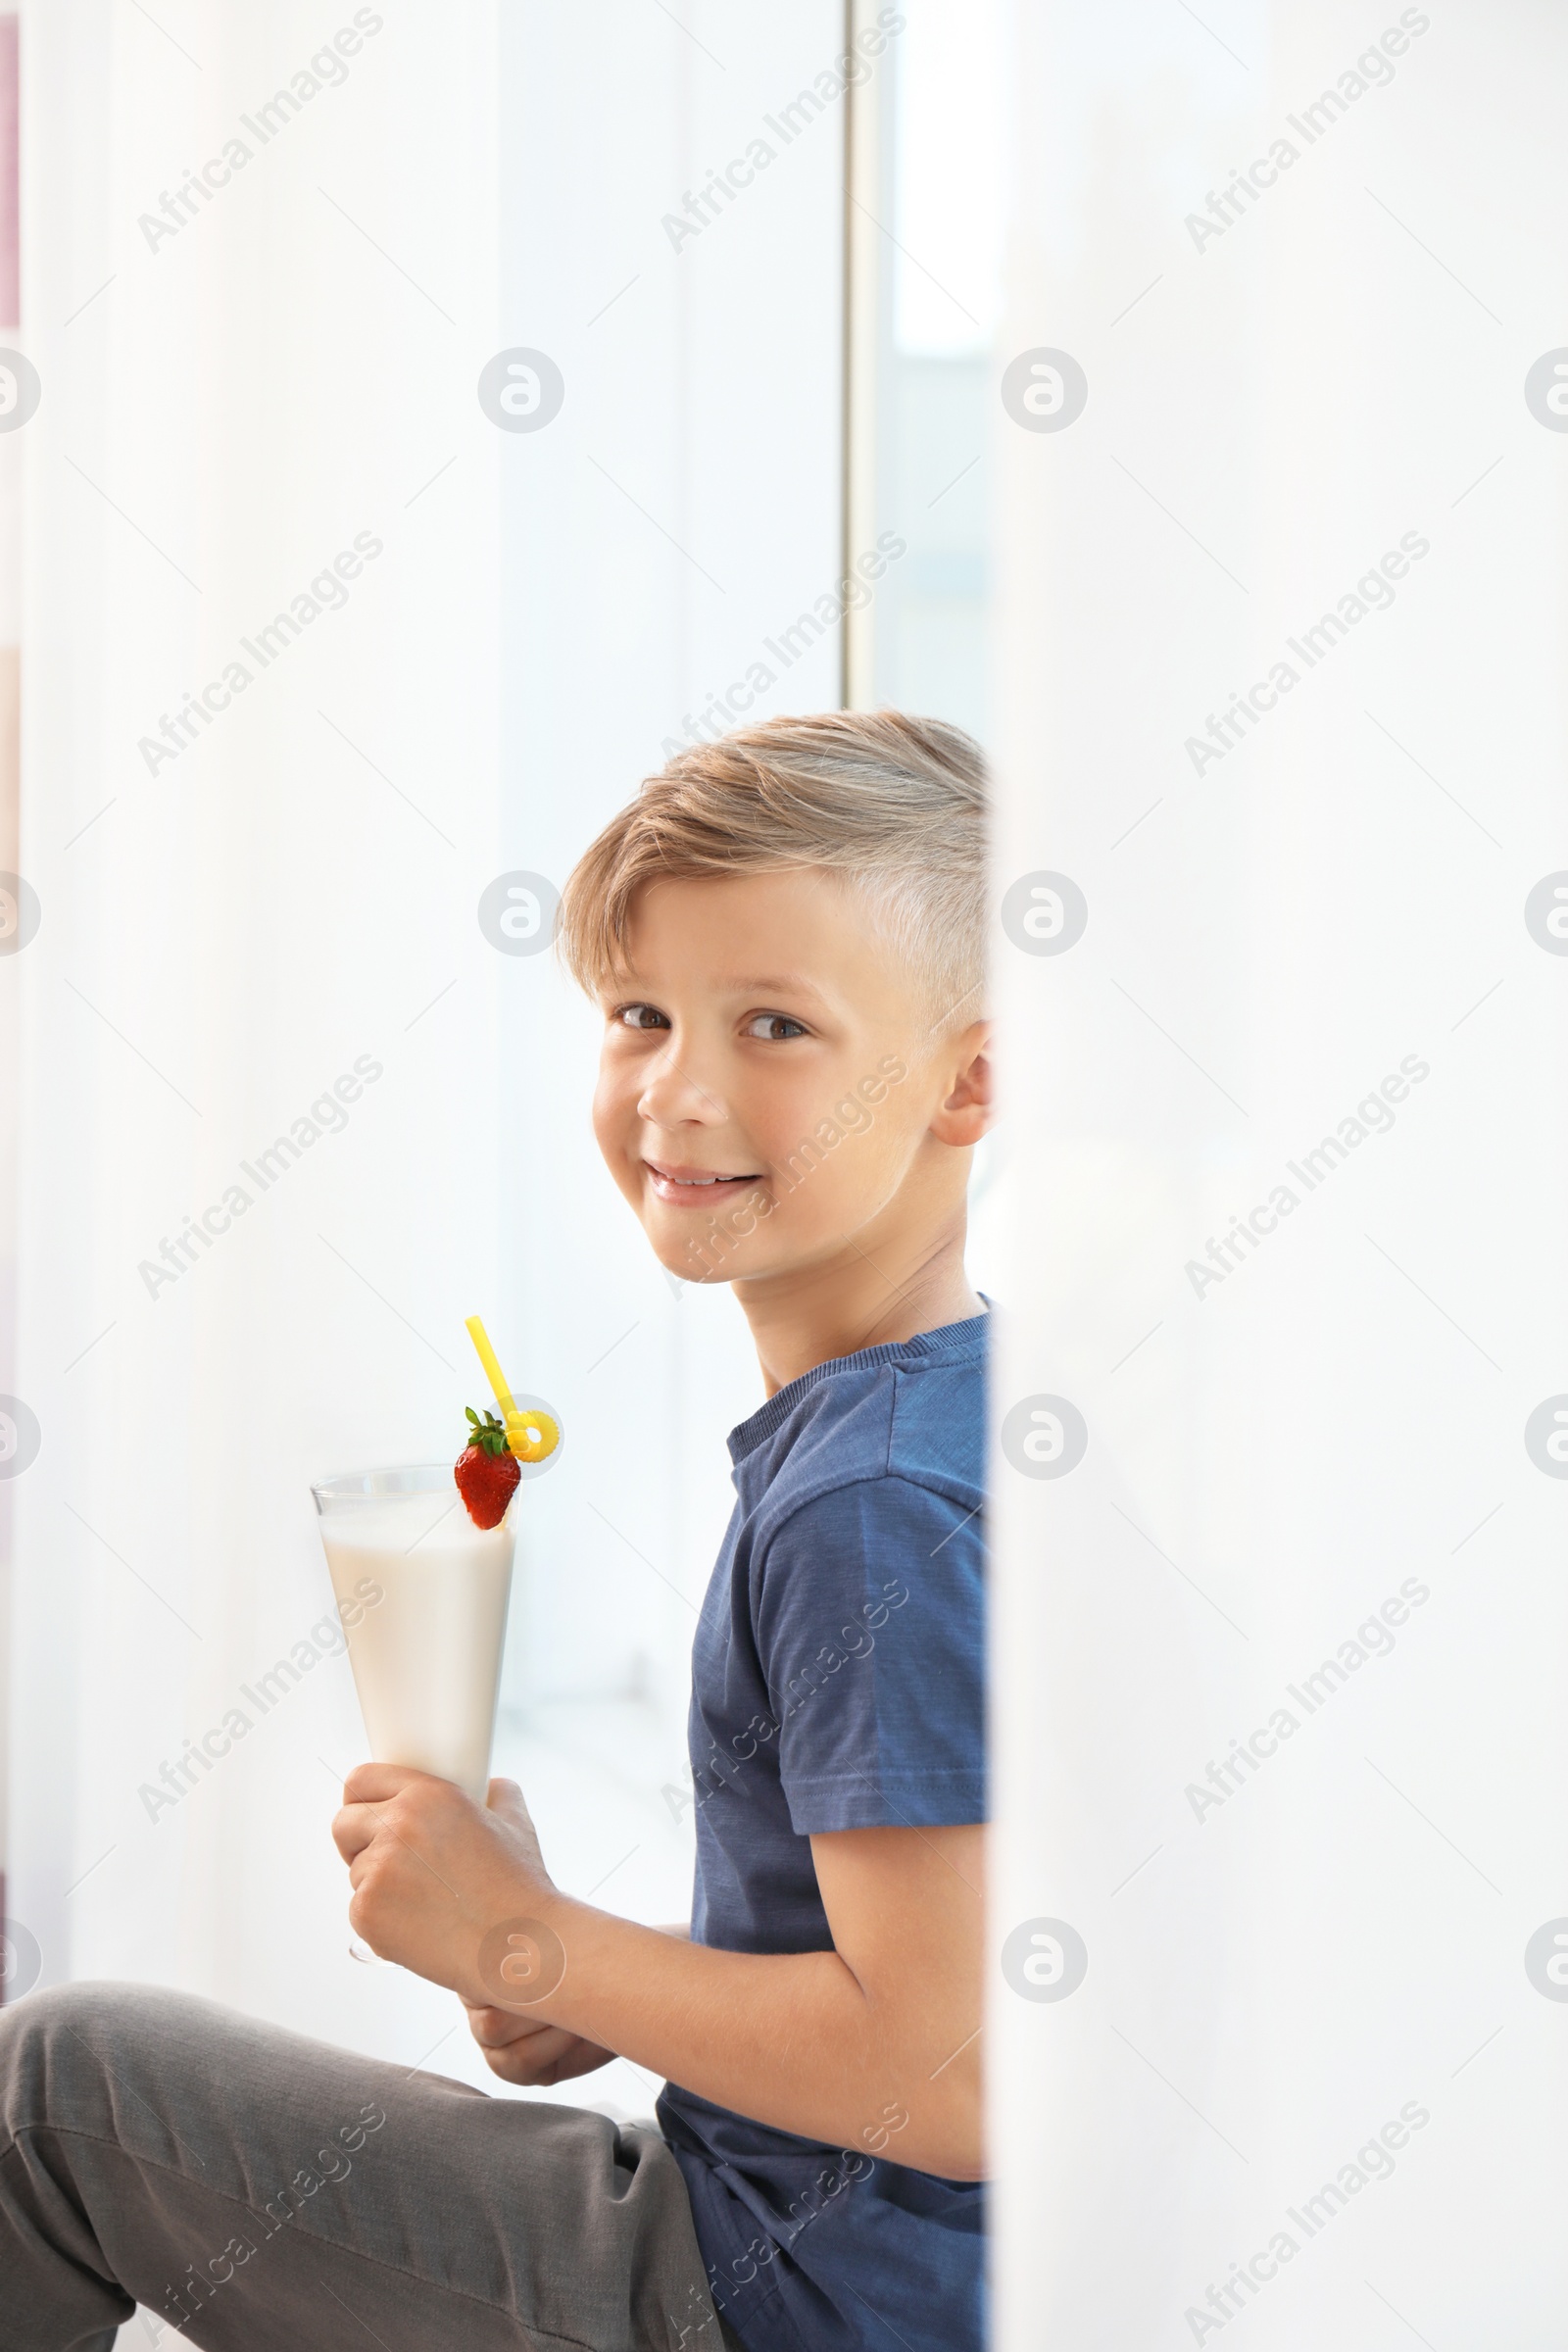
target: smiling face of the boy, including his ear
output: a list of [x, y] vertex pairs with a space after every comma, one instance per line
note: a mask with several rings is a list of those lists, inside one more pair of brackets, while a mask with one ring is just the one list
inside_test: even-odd
[[670, 1272], [780, 1275], [832, 1261], [900, 1197], [961, 1200], [985, 1112], [945, 1105], [976, 1030], [931, 1033], [853, 884], [646, 884], [602, 1004], [595, 1134]]

